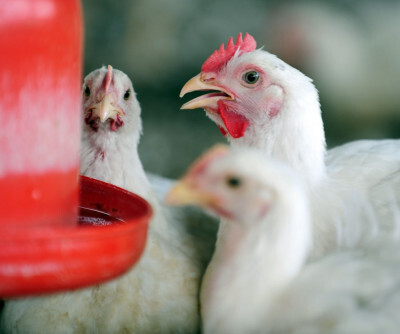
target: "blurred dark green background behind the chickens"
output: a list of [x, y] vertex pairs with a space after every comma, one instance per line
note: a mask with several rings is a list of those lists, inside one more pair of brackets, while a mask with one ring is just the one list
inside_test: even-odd
[[183, 84], [221, 43], [249, 32], [314, 79], [328, 147], [400, 137], [400, 1], [82, 0], [84, 73], [111, 64], [142, 106], [146, 170], [180, 176], [225, 142], [202, 110], [179, 110]]

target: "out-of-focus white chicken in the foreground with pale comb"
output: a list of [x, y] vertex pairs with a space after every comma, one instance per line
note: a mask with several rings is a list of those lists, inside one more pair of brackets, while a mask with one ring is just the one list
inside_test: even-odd
[[201, 287], [205, 334], [398, 332], [400, 245], [376, 239], [306, 263], [303, 181], [254, 149], [216, 147], [169, 194], [222, 217]]

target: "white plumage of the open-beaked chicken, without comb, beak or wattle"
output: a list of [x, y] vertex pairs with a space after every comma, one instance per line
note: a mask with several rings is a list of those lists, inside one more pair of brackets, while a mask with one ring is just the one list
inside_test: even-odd
[[[235, 76], [238, 68], [261, 68], [265, 77], [260, 85], [270, 84], [263, 90], [244, 88], [241, 77]], [[356, 141], [327, 151], [318, 92], [311, 79], [261, 49], [233, 57], [217, 81], [214, 84], [235, 93], [230, 105], [237, 103], [235, 111], [250, 122], [242, 137], [226, 135], [232, 147], [258, 148], [295, 168], [308, 183], [315, 256], [396, 230], [381, 228], [382, 224], [395, 226], [398, 221], [388, 213], [382, 217], [381, 210], [374, 207], [374, 198], [385, 198], [389, 189], [395, 199], [392, 203], [400, 198], [398, 188], [385, 182], [399, 170], [399, 140]], [[271, 96], [273, 99], [275, 95], [270, 96], [269, 91], [276, 87], [283, 92], [282, 106], [270, 117], [260, 103]], [[218, 114], [209, 116], [224, 126]], [[382, 182], [385, 186], [375, 187]]]

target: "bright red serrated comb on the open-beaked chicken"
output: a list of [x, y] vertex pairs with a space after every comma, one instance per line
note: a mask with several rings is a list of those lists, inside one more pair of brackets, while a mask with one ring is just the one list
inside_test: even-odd
[[239, 50], [240, 54], [251, 52], [256, 49], [257, 42], [250, 34], [246, 33], [242, 40], [242, 33], [239, 33], [236, 43], [233, 44], [233, 38], [229, 38], [226, 49], [224, 43], [221, 44], [219, 50], [215, 50], [213, 54], [208, 57], [201, 67], [202, 72], [216, 72], [221, 66], [225, 65]]

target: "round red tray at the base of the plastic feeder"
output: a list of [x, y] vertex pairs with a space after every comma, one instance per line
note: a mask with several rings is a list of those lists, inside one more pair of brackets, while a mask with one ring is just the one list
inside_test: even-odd
[[141, 197], [82, 176], [75, 226], [0, 228], [0, 296], [76, 289], [117, 277], [142, 254], [151, 215]]

